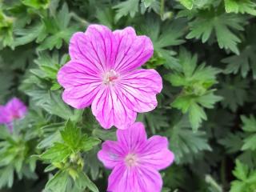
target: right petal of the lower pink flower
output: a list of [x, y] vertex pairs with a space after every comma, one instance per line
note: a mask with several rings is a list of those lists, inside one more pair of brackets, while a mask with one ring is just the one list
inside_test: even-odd
[[149, 138], [139, 152], [139, 161], [143, 166], [162, 170], [174, 162], [174, 154], [168, 150], [168, 140], [155, 135]]

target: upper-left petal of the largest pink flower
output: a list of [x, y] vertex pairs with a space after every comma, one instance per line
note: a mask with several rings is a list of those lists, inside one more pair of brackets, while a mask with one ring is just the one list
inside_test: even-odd
[[85, 33], [78, 32], [70, 39], [70, 57], [94, 66], [100, 71], [109, 70], [117, 46], [114, 35], [106, 26], [90, 25]]

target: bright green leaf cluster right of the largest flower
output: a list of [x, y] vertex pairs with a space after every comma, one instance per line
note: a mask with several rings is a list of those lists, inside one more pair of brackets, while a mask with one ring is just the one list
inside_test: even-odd
[[189, 114], [194, 131], [207, 119], [204, 108], [212, 109], [216, 102], [222, 100], [222, 97], [214, 95], [214, 90], [210, 90], [210, 86], [217, 82], [216, 74], [220, 70], [205, 64], [197, 66], [197, 61], [196, 55], [181, 49], [180, 67], [164, 76], [173, 86], [182, 86], [182, 93], [174, 99], [171, 106], [182, 110], [183, 114]]

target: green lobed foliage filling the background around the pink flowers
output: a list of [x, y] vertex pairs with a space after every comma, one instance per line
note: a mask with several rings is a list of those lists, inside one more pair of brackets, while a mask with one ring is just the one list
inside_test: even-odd
[[138, 121], [174, 151], [162, 191], [256, 191], [255, 16], [255, 0], [0, 0], [0, 104], [15, 95], [30, 110], [13, 134], [0, 126], [1, 191], [106, 191], [96, 154], [115, 128], [67, 106], [56, 81], [90, 23], [154, 42], [144, 67], [164, 89]]

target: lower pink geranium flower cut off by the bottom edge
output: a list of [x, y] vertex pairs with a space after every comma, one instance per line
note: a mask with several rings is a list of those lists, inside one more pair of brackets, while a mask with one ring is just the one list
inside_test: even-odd
[[106, 141], [98, 158], [108, 169], [109, 192], [160, 192], [162, 178], [158, 170], [174, 162], [168, 141], [161, 136], [146, 138], [141, 122], [127, 130], [117, 130], [118, 141]]

